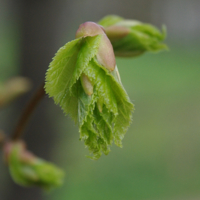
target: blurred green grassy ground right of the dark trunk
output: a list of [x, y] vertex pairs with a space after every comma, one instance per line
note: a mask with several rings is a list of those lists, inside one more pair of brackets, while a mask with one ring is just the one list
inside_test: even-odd
[[77, 128], [59, 118], [60, 132], [68, 133], [62, 134], [54, 159], [59, 156], [68, 182], [50, 200], [199, 199], [199, 47], [170, 46], [170, 52], [156, 56], [117, 59], [136, 105], [122, 149], [113, 147], [97, 162], [84, 159]]

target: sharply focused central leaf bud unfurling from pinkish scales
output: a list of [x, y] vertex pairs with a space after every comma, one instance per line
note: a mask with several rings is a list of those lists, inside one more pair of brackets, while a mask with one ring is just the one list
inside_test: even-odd
[[75, 40], [56, 53], [45, 90], [65, 114], [78, 122], [80, 139], [92, 159], [108, 154], [130, 125], [133, 104], [121, 83], [112, 45], [94, 22], [80, 25]]

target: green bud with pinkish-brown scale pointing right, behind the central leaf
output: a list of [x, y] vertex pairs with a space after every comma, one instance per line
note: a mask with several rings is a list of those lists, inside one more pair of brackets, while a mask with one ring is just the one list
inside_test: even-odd
[[116, 56], [135, 57], [145, 52], [158, 52], [167, 49], [162, 43], [166, 28], [160, 32], [156, 27], [136, 20], [127, 20], [109, 15], [99, 21], [110, 39]]

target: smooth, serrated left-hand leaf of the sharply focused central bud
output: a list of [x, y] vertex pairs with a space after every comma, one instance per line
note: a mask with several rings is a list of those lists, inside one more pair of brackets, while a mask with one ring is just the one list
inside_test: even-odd
[[46, 73], [46, 92], [75, 122], [78, 119], [78, 94], [75, 83], [97, 52], [100, 38], [101, 36], [86, 37], [68, 42], [58, 50]]

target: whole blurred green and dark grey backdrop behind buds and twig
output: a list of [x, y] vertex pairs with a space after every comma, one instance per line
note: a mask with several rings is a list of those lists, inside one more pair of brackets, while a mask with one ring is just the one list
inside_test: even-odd
[[0, 81], [22, 75], [33, 83], [29, 94], [0, 110], [0, 129], [12, 133], [51, 58], [79, 24], [108, 14], [168, 29], [170, 51], [117, 59], [136, 107], [124, 147], [113, 145], [98, 161], [86, 158], [78, 128], [46, 97], [24, 139], [65, 170], [65, 183], [50, 193], [24, 189], [0, 161], [1, 200], [200, 199], [199, 0], [0, 0]]

